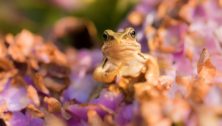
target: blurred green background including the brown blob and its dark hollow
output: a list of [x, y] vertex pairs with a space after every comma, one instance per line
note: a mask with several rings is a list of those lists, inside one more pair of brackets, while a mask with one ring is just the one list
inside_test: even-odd
[[74, 43], [74, 46], [91, 48], [101, 40], [105, 29], [115, 30], [137, 2], [138, 0], [1, 0], [0, 34], [15, 34], [28, 29], [45, 38], [59, 40], [63, 45], [73, 44], [73, 39], [82, 41], [84, 38], [86, 40], [83, 41], [88, 41], [87, 43]]

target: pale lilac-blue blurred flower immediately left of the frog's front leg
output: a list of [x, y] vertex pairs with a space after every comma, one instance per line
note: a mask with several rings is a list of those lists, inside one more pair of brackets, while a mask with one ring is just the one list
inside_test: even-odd
[[70, 76], [71, 84], [63, 92], [63, 100], [75, 99], [80, 103], [86, 103], [89, 95], [98, 86], [88, 72], [91, 72], [101, 60], [102, 55], [98, 50], [81, 50], [77, 53]]

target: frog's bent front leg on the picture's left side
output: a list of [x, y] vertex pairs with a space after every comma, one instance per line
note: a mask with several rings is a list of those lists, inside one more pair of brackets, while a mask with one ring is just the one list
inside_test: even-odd
[[104, 62], [95, 69], [93, 77], [99, 82], [111, 83], [115, 80], [119, 69], [120, 67], [112, 66], [107, 59], [104, 59]]

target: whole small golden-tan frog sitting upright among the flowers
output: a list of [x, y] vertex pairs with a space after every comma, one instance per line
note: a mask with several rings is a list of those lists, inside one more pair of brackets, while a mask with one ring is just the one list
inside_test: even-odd
[[159, 76], [156, 59], [141, 52], [133, 28], [126, 28], [123, 32], [105, 30], [104, 39], [104, 58], [93, 73], [95, 80], [111, 83], [116, 77], [136, 78], [141, 73], [147, 80]]

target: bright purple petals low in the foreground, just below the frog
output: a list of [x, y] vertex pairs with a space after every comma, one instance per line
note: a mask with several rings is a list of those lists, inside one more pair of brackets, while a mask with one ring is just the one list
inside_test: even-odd
[[67, 112], [75, 118], [75, 120], [72, 118], [70, 120], [76, 123], [87, 121], [87, 112], [89, 110], [95, 110], [98, 115], [104, 117], [106, 114], [114, 112], [117, 109], [122, 101], [122, 98], [122, 94], [103, 90], [100, 93], [99, 98], [91, 100], [87, 105], [70, 105], [67, 108]]

